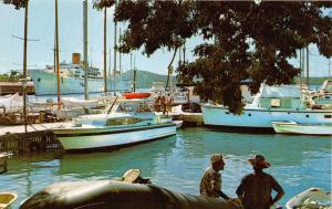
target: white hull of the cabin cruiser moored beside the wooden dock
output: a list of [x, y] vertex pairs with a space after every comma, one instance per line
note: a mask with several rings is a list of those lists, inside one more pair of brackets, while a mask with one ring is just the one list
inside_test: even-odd
[[176, 134], [176, 125], [147, 125], [129, 128], [53, 129], [69, 151], [110, 149], [163, 138]]

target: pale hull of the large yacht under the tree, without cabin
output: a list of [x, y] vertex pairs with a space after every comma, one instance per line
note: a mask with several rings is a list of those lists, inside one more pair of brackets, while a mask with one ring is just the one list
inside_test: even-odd
[[234, 115], [227, 107], [217, 105], [203, 105], [204, 123], [208, 126], [225, 126], [250, 129], [270, 129], [272, 122], [293, 121], [303, 124], [332, 123], [332, 111], [288, 111], [288, 109], [264, 109], [245, 108], [241, 115]]

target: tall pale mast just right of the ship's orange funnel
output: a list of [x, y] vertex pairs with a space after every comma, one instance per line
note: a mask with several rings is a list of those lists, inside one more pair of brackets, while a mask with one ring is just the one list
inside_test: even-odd
[[87, 92], [87, 0], [83, 1], [83, 39], [84, 39], [84, 98], [89, 100]]

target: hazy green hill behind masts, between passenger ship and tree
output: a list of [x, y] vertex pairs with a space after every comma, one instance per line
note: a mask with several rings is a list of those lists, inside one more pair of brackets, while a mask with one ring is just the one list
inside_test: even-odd
[[[133, 81], [134, 71], [126, 71], [123, 73], [123, 77], [128, 81]], [[173, 76], [173, 85], [176, 85], [176, 77]], [[166, 85], [167, 75], [160, 75], [148, 71], [136, 71], [136, 87], [137, 88], [151, 88], [153, 82], [163, 82]]]

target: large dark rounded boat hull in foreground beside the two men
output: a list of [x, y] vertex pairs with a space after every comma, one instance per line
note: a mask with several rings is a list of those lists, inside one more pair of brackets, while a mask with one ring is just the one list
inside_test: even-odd
[[236, 200], [187, 195], [155, 185], [114, 180], [54, 184], [25, 200], [20, 209], [240, 209]]

